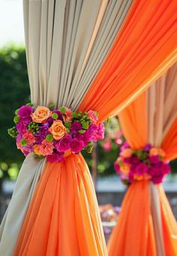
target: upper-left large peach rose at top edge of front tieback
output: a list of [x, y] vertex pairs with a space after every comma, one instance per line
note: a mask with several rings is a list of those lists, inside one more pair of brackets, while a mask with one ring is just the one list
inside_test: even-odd
[[43, 123], [51, 115], [52, 111], [50, 111], [48, 107], [38, 106], [34, 113], [31, 114], [31, 118], [33, 122]]

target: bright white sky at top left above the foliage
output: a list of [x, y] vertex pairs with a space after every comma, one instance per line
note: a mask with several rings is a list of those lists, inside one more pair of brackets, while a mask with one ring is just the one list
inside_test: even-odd
[[25, 44], [23, 0], [0, 0], [0, 47], [8, 43]]

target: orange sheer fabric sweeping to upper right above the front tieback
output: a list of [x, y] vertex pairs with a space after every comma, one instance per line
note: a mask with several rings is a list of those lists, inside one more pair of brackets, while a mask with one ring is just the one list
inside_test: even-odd
[[[175, 0], [136, 0], [80, 110], [120, 112], [177, 59]], [[103, 107], [104, 106], [104, 107]]]

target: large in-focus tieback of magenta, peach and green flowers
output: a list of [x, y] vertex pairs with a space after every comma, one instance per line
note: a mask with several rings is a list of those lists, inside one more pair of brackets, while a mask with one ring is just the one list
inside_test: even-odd
[[26, 104], [15, 113], [16, 126], [8, 134], [16, 138], [24, 155], [34, 152], [50, 162], [64, 161], [71, 152], [92, 152], [93, 142], [104, 138], [104, 124], [98, 123], [98, 113], [93, 110], [82, 113], [43, 106], [34, 110], [33, 104]]

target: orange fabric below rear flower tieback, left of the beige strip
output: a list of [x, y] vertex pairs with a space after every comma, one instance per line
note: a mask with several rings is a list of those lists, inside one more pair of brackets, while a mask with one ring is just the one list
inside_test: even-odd
[[156, 255], [148, 181], [130, 185], [108, 244], [108, 252], [110, 256]]

